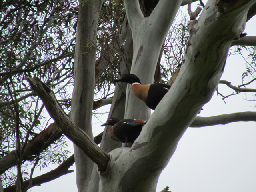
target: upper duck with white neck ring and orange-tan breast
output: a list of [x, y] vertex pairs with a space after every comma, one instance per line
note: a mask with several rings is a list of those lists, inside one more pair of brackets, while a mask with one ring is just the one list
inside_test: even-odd
[[134, 74], [124, 74], [120, 79], [114, 82], [126, 82], [132, 84], [132, 92], [136, 97], [145, 102], [146, 106], [155, 110], [158, 103], [171, 88], [164, 83], [142, 85], [140, 79]]

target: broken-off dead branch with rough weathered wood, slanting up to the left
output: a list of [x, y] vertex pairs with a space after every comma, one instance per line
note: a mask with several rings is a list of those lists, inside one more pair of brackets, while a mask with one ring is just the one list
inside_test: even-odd
[[78, 146], [84, 153], [95, 162], [101, 171], [106, 170], [109, 155], [99, 148], [91, 138], [82, 131], [71, 118], [64, 112], [52, 90], [39, 78], [27, 78], [32, 89], [38, 94], [44, 103], [48, 113], [58, 124], [62, 132]]

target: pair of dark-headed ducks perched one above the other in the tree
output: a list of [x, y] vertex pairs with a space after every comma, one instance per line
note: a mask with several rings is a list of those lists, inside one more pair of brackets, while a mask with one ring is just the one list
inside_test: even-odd
[[[114, 80], [114, 82], [132, 84], [132, 92], [134, 95], [153, 110], [155, 110], [158, 103], [171, 87], [163, 83], [142, 85], [140, 79], [134, 74], [125, 74], [120, 79]], [[109, 118], [107, 122], [101, 126], [112, 125], [108, 132], [109, 137], [112, 140], [125, 143], [125, 147], [127, 147], [127, 143], [133, 143], [140, 135], [144, 124], [146, 124], [146, 121], [142, 119], [123, 119], [120, 121], [117, 118]]]

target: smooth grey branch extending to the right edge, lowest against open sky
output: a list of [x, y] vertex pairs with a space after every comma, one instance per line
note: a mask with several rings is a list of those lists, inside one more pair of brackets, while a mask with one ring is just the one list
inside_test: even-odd
[[246, 111], [212, 117], [196, 117], [190, 127], [205, 127], [213, 125], [226, 125], [238, 121], [256, 121], [256, 112]]

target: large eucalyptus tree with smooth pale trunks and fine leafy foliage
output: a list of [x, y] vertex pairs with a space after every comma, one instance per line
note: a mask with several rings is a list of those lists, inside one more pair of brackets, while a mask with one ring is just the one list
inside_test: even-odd
[[[202, 106], [211, 99], [219, 83], [227, 84], [237, 92], [250, 91], [220, 81], [220, 77], [230, 46], [255, 46], [254, 37], [242, 34], [246, 21], [255, 14], [255, 2], [208, 0], [204, 6], [200, 1], [201, 8], [194, 12], [186, 0], [125, 0], [125, 10], [119, 1], [103, 3], [100, 0], [81, 0], [79, 6], [70, 1], [44, 1], [41, 4], [32, 4], [32, 1], [5, 2], [2, 4], [5, 15], [1, 24], [4, 29], [2, 53], [5, 55], [2, 58], [6, 59], [2, 60], [4, 72], [0, 83], [3, 86], [2, 100], [7, 100], [2, 102], [2, 106], [5, 103], [8, 107], [3, 108], [2, 116], [12, 123], [13, 130], [10, 131], [4, 121], [1, 122], [5, 141], [12, 138], [12, 143], [2, 144], [4, 153], [0, 164], [5, 164], [0, 170], [6, 171], [16, 164], [17, 191], [25, 191], [34, 186], [32, 174], [30, 182], [24, 182], [22, 164], [25, 160], [36, 157], [34, 169], [40, 157], [46, 153], [47, 150], [44, 149], [51, 146], [52, 142], [58, 142], [62, 135], [58, 130], [60, 128], [76, 144], [74, 156], [78, 191], [156, 191], [158, 177], [188, 126], [255, 121], [254, 112], [227, 114], [219, 116], [218, 120], [216, 117], [196, 117]], [[173, 37], [168, 32], [178, 8], [184, 4], [188, 4], [188, 26], [180, 29], [184, 32], [180, 33], [181, 40], [168, 42]], [[8, 6], [11, 6], [10, 10]], [[189, 32], [188, 38], [186, 31]], [[240, 39], [241, 36], [244, 37]], [[172, 41], [180, 47], [177, 54], [173, 54], [174, 49], [170, 45]], [[22, 46], [23, 44], [26, 46]], [[167, 61], [174, 59], [171, 65], [161, 65], [162, 53], [170, 54], [166, 57]], [[252, 52], [252, 58], [254, 55], [255, 52]], [[63, 58], [66, 61], [64, 63], [61, 60]], [[95, 93], [100, 94], [101, 88], [104, 97], [108, 95], [110, 84], [117, 73], [122, 75], [131, 72], [140, 78], [142, 84], [151, 84], [160, 81], [161, 74], [168, 80], [168, 75], [174, 74], [178, 64], [181, 64], [180, 72], [153, 114], [132, 94], [130, 86], [124, 83], [116, 84], [112, 99], [103, 99], [98, 103], [93, 101]], [[252, 68], [253, 64], [254, 60]], [[33, 91], [24, 81], [24, 72], [31, 71], [37, 76], [32, 78], [27, 74]], [[248, 71], [247, 74], [252, 70]], [[74, 90], [70, 105], [70, 97], [65, 95], [68, 91], [61, 90], [68, 88], [73, 75]], [[57, 87], [57, 82], [64, 83]], [[30, 91], [30, 94], [25, 96], [23, 91]], [[38, 127], [39, 132], [42, 130], [38, 118], [44, 107], [38, 102], [39, 98], [34, 97], [36, 95], [42, 99], [55, 123], [47, 128], [51, 130], [50, 133], [41, 143], [39, 140], [40, 148], [32, 153], [32, 148], [36, 146], [33, 141], [40, 138], [36, 137], [38, 132], [34, 126]], [[65, 102], [57, 101], [54, 95], [58, 98], [63, 96]], [[29, 106], [28, 100], [23, 100], [29, 96], [33, 96], [32, 101], [35, 101], [36, 106]], [[121, 147], [120, 143], [110, 140], [108, 126], [99, 136], [102, 138], [100, 148], [92, 142], [92, 110], [109, 101], [112, 101], [109, 116], [119, 119], [142, 118], [148, 121], [131, 148]], [[58, 102], [62, 106], [68, 106], [66, 112], [71, 107], [72, 120]], [[38, 105], [41, 106], [40, 110]], [[30, 112], [32, 107], [35, 108]], [[25, 131], [22, 132], [20, 128]], [[17, 134], [20, 132], [21, 134]], [[44, 135], [42, 133], [41, 136]], [[52, 135], [58, 137], [53, 138]], [[99, 143], [96, 138], [94, 140]], [[29, 144], [31, 148], [26, 147]], [[10, 149], [5, 150], [6, 146]], [[15, 147], [16, 150], [11, 151]], [[60, 150], [56, 152], [57, 157], [60, 156]], [[27, 151], [29, 153], [25, 153]], [[56, 161], [56, 156], [42, 158], [45, 162], [41, 163]], [[14, 162], [10, 163], [10, 159]], [[59, 158], [59, 162], [63, 159], [65, 157]], [[62, 174], [68, 172], [74, 157], [65, 162], [69, 163], [66, 172]], [[14, 179], [11, 181], [13, 183]], [[5, 190], [11, 191], [10, 188]]]

